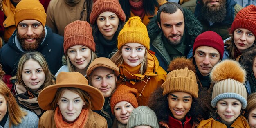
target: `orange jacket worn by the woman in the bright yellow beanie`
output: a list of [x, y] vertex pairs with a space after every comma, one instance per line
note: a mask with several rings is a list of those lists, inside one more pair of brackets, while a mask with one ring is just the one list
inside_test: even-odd
[[[119, 70], [120, 74], [118, 76], [117, 85], [124, 84], [131, 88], [136, 88], [138, 90], [137, 101], [139, 106], [146, 105], [150, 94], [164, 83], [167, 75], [164, 69], [159, 66], [159, 62], [155, 55], [150, 52], [148, 52], [148, 67], [144, 75], [130, 74], [130, 76], [124, 76], [124, 64], [119, 65]], [[129, 82], [129, 80], [134, 78], [137, 78], [135, 79], [135, 82]]]

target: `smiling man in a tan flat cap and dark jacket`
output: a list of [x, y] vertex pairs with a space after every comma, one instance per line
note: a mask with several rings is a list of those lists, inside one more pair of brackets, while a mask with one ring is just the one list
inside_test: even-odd
[[117, 86], [119, 68], [109, 58], [99, 57], [89, 65], [86, 75], [89, 78], [90, 85], [99, 89], [105, 98], [103, 108], [95, 112], [107, 120], [108, 128], [112, 128], [114, 115], [111, 112], [109, 103], [110, 95]]

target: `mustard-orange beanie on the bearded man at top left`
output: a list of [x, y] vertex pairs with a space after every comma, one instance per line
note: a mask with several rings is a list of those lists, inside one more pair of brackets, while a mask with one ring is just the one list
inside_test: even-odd
[[21, 0], [15, 8], [15, 27], [23, 20], [37, 20], [45, 27], [46, 13], [43, 5], [38, 0]]

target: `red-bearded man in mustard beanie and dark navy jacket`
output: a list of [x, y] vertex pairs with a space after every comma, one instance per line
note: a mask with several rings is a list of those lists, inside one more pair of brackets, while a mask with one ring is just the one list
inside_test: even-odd
[[46, 13], [38, 0], [22, 0], [15, 9], [16, 29], [8, 43], [0, 49], [0, 63], [8, 75], [16, 74], [16, 67], [26, 51], [38, 51], [45, 57], [52, 74], [61, 67], [63, 37], [45, 26]]

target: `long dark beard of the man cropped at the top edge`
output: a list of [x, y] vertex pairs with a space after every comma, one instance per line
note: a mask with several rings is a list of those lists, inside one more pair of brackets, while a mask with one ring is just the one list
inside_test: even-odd
[[202, 1], [201, 13], [204, 19], [209, 22], [222, 22], [226, 17], [226, 0], [219, 0], [220, 4], [218, 6], [209, 6], [209, 0], [206, 3]]

